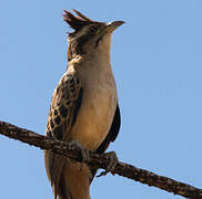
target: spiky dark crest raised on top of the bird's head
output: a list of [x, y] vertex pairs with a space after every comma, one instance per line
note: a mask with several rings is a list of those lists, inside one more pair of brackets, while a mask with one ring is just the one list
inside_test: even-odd
[[73, 15], [70, 11], [64, 10], [63, 19], [64, 21], [75, 31], [79, 31], [84, 25], [88, 25], [90, 23], [94, 23], [95, 21], [92, 21], [91, 19], [87, 18], [81, 12], [73, 10], [77, 15]]

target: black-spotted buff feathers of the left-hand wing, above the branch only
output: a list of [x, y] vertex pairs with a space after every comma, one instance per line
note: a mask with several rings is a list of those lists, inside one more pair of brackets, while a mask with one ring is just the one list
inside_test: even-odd
[[47, 124], [47, 135], [60, 140], [67, 139], [63, 132], [71, 127], [68, 124], [74, 123], [70, 117], [77, 105], [80, 104], [82, 95], [81, 83], [75, 74], [64, 74], [57, 86], [51, 102], [50, 113]]

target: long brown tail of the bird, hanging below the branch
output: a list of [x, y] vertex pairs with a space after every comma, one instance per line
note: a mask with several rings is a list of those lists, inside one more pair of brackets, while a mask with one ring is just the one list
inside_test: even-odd
[[44, 163], [54, 199], [90, 199], [92, 175], [87, 165], [81, 167], [50, 151], [44, 153]]

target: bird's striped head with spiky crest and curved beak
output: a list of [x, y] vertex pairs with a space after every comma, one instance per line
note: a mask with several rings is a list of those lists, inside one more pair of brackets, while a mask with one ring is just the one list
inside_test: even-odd
[[64, 21], [74, 30], [68, 35], [68, 61], [74, 55], [110, 52], [111, 34], [123, 21], [110, 23], [92, 21], [77, 10], [77, 15], [64, 10]]

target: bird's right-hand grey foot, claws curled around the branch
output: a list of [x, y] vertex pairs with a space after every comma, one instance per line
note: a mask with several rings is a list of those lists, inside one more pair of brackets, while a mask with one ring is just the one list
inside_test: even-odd
[[110, 159], [110, 164], [108, 165], [108, 168], [104, 171], [100, 172], [100, 175], [98, 175], [97, 177], [105, 176], [108, 172], [111, 172], [112, 175], [115, 174], [114, 169], [117, 164], [119, 163], [115, 151], [107, 153], [105, 157]]

